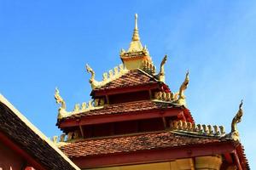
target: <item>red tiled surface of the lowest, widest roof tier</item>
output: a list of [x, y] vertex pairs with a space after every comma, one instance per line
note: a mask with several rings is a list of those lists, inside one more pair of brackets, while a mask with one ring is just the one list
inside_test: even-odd
[[191, 144], [210, 144], [227, 140], [229, 139], [189, 137], [172, 132], [157, 132], [108, 139], [85, 139], [64, 145], [60, 149], [69, 157], [79, 157], [173, 148]]

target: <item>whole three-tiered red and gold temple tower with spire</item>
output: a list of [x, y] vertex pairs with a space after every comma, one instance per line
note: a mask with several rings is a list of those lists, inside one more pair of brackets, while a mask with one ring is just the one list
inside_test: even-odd
[[[196, 124], [186, 105], [189, 72], [178, 92], [165, 82], [164, 56], [157, 69], [135, 27], [121, 64], [103, 73], [102, 81], [90, 74], [91, 100], [68, 111], [55, 89], [57, 146], [81, 169], [102, 170], [245, 170], [249, 169], [237, 123], [242, 102], [234, 113], [231, 132], [223, 126]], [[158, 71], [157, 71], [158, 70]]]

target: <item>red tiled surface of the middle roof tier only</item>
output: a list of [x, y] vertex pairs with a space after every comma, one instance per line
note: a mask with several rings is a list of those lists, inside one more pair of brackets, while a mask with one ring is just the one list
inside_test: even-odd
[[96, 109], [91, 111], [81, 112], [79, 114], [74, 114], [63, 118], [62, 120], [67, 119], [77, 119], [84, 116], [96, 116], [96, 115], [110, 115], [110, 114], [122, 114], [135, 111], [150, 111], [150, 110], [159, 110], [159, 109], [170, 109], [173, 107], [178, 107], [171, 103], [163, 103], [152, 100], [141, 100], [135, 102], [127, 102], [113, 105], [106, 105], [102, 109]]

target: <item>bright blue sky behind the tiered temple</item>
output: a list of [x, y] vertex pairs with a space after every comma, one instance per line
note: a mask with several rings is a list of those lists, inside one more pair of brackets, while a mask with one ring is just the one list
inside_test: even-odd
[[195, 122], [238, 125], [252, 169], [255, 162], [256, 1], [0, 1], [0, 93], [47, 136], [55, 127], [57, 86], [73, 105], [90, 99], [89, 75], [120, 64], [134, 14], [155, 65], [165, 54], [166, 82], [177, 91], [190, 71], [187, 103]]

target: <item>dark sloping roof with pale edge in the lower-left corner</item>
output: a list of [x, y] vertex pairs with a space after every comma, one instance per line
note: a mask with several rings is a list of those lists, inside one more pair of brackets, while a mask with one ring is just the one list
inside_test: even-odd
[[45, 169], [79, 169], [1, 94], [0, 125], [0, 134], [3, 133]]

